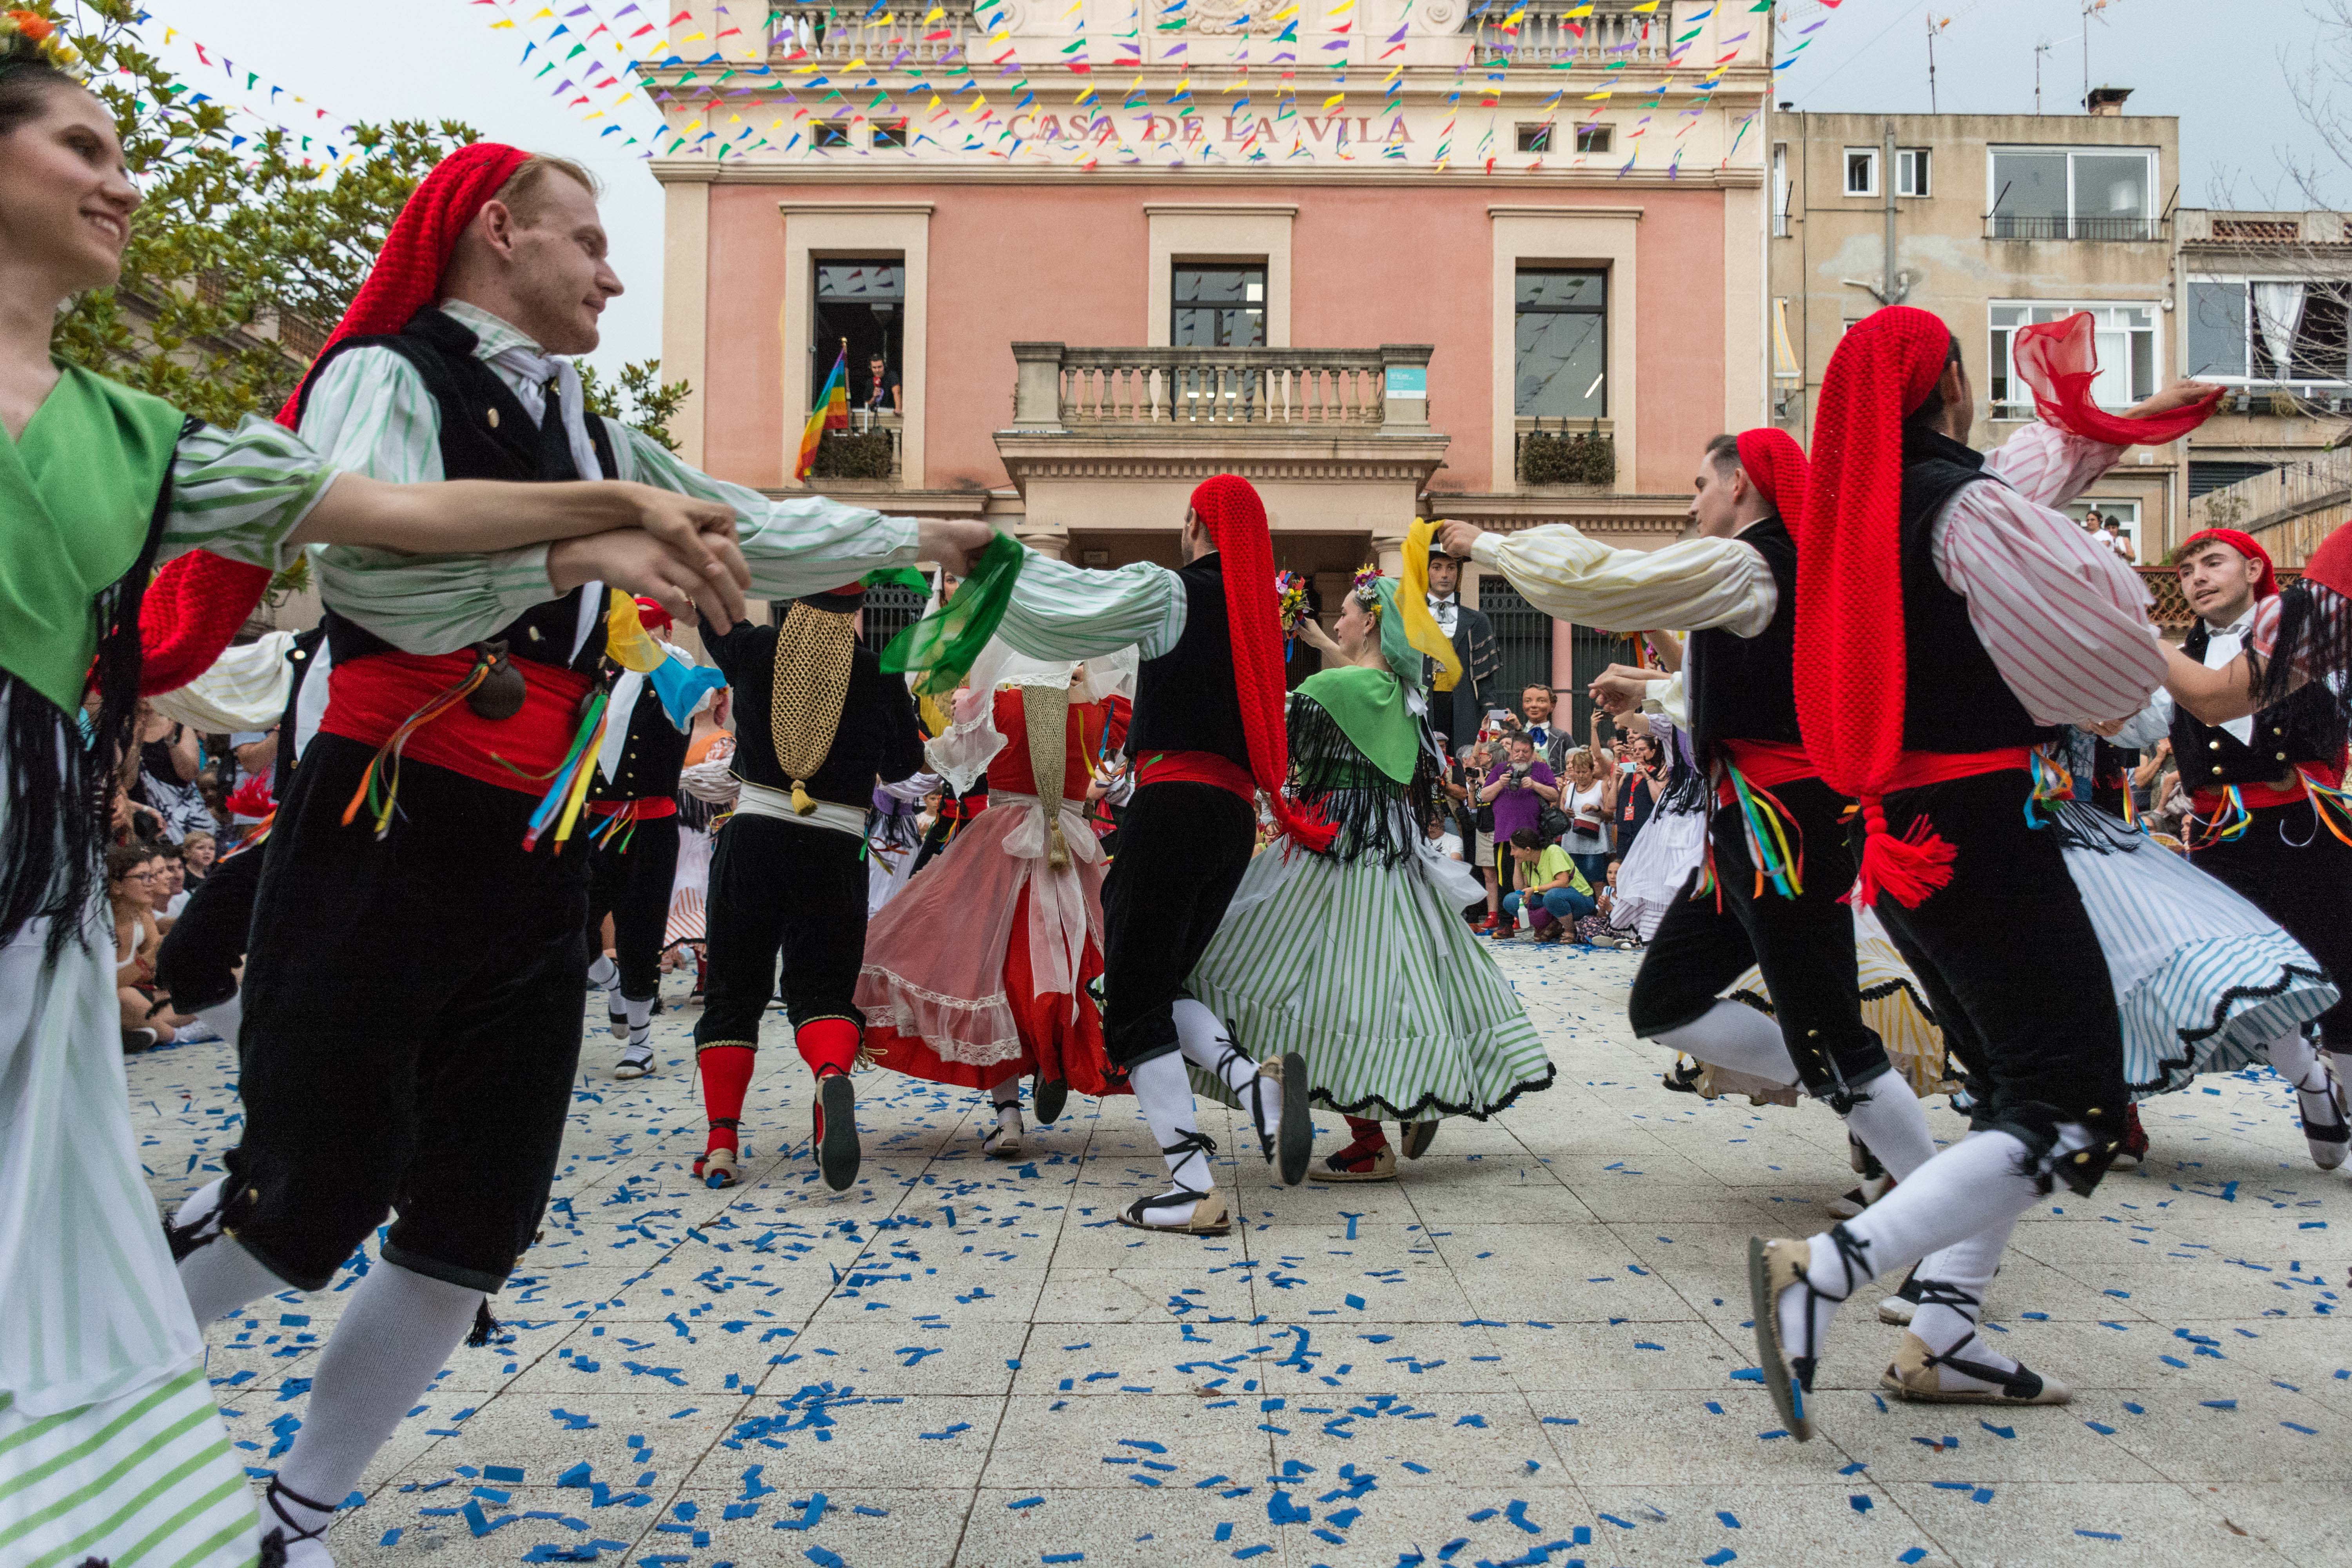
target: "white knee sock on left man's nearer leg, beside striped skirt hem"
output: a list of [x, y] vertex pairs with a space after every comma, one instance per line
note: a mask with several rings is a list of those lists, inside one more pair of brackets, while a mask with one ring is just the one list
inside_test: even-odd
[[[480, 1305], [480, 1291], [379, 1260], [318, 1356], [310, 1408], [278, 1479], [329, 1512], [341, 1505], [473, 1328]], [[280, 1497], [280, 1507], [303, 1528], [325, 1523], [292, 1500]], [[268, 1512], [261, 1523], [270, 1526]]]

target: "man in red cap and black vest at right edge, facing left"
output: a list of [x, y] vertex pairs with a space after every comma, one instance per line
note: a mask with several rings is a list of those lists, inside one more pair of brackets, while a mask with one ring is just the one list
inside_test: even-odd
[[[2183, 541], [2173, 564], [2197, 611], [2180, 654], [2220, 670], [2244, 651], [2256, 607], [2279, 597], [2270, 552], [2237, 529], [2206, 529]], [[2331, 976], [2352, 976], [2352, 844], [2336, 837], [2310, 788], [2343, 785], [2345, 715], [2336, 693], [2310, 682], [2244, 719], [2206, 724], [2171, 691], [2157, 691], [2117, 743], [2154, 745], [2166, 733], [2194, 806], [2183, 835], [2190, 860], [2279, 922]], [[2296, 1086], [2312, 1164], [2333, 1171], [2352, 1140], [2343, 1091], [2352, 1001], [2319, 1016], [2319, 1039], [2326, 1053], [2303, 1034], [2281, 1034], [2270, 1041], [2270, 1065]]]

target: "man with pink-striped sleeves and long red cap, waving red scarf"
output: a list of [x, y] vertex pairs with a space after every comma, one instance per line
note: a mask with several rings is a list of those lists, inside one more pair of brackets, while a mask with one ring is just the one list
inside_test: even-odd
[[[2065, 1403], [1976, 1338], [2018, 1215], [2056, 1182], [2091, 1192], [2122, 1143], [2122, 1020], [2060, 844], [2037, 832], [2032, 745], [2051, 724], [2138, 712], [2164, 675], [2138, 576], [2051, 510], [2133, 437], [2213, 407], [2173, 383], [2114, 418], [2089, 404], [2089, 315], [2027, 327], [2044, 421], [1997, 454], [1964, 444], [1959, 341], [1889, 308], [1837, 346], [1797, 534], [1797, 715], [1820, 778], [1858, 797], [1856, 900], [1875, 905], [1969, 1070], [1973, 1131], [1809, 1241], [1755, 1239], [1764, 1382], [1813, 1436], [1820, 1345], [1856, 1288], [1919, 1265], [1922, 1305], [1882, 1378], [1903, 1399]], [[2079, 339], [2074, 336], [2079, 334]], [[1997, 482], [1987, 482], [1997, 480]], [[2063, 607], [2063, 609], [2058, 609]]]

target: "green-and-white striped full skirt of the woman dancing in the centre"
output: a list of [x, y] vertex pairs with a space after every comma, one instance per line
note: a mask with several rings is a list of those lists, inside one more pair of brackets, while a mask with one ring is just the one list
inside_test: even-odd
[[[1418, 853], [1348, 863], [1277, 839], [1188, 990], [1249, 1056], [1303, 1056], [1312, 1103], [1350, 1117], [1484, 1121], [1552, 1084], [1543, 1037]], [[1235, 1103], [1202, 1072], [1192, 1086]]]

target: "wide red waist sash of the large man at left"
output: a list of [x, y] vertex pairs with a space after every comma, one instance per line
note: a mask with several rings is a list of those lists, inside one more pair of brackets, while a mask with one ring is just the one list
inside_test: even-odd
[[[534, 658], [517, 658], [513, 668], [522, 672], [522, 712], [485, 719], [456, 703], [416, 729], [402, 755], [517, 795], [543, 795], [548, 776], [572, 752], [588, 677]], [[318, 726], [329, 736], [383, 745], [409, 715], [463, 682], [470, 670], [470, 651], [369, 654], [339, 663], [327, 672], [327, 715]], [[670, 809], [677, 809], [675, 802]]]

